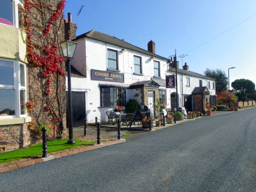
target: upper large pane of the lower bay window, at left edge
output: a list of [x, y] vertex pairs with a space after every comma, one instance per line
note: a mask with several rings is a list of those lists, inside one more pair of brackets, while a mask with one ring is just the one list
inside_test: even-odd
[[13, 62], [0, 60], [0, 84], [13, 85]]

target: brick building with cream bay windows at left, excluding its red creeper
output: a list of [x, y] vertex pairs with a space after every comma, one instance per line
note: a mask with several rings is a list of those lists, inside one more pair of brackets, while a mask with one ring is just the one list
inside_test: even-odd
[[[30, 1], [38, 3], [38, 1]], [[51, 9], [58, 9], [61, 0], [50, 0]], [[40, 139], [36, 132], [40, 124], [49, 128], [50, 135], [58, 130], [58, 127], [66, 128], [66, 85], [64, 75], [52, 75], [52, 86], [49, 87], [50, 95], [46, 95], [46, 85], [41, 75], [43, 68], [36, 67], [26, 60], [26, 30], [22, 24], [24, 17], [22, 9], [25, 8], [26, 0], [2, 0], [0, 8], [0, 150], [13, 150], [23, 148]], [[42, 9], [45, 8], [42, 6]], [[48, 7], [49, 8], [49, 7]], [[40, 48], [47, 41], [58, 44], [64, 40], [64, 20], [60, 18], [49, 24], [50, 32], [44, 36], [45, 26], [42, 25], [40, 11], [36, 6], [28, 10], [30, 16], [32, 42], [35, 48]], [[47, 23], [50, 20], [45, 18]], [[67, 23], [67, 22], [66, 22]], [[65, 24], [66, 25], [66, 24]], [[59, 27], [60, 26], [60, 27]], [[59, 27], [59, 28], [58, 28]], [[54, 31], [54, 33], [53, 33]], [[40, 55], [39, 49], [34, 51]], [[57, 55], [61, 56], [58, 50]], [[64, 63], [60, 69], [65, 70]], [[63, 82], [56, 88], [55, 80]], [[53, 91], [54, 90], [54, 91]], [[58, 97], [58, 98], [57, 98]], [[57, 99], [56, 99], [57, 98]], [[46, 100], [50, 99], [50, 110], [46, 110]], [[34, 103], [34, 109], [28, 112], [26, 103]], [[55, 116], [54, 116], [55, 115]], [[61, 123], [53, 122], [53, 117], [61, 117]], [[59, 119], [57, 119], [60, 121]], [[34, 124], [33, 124], [33, 123]], [[54, 128], [56, 130], [54, 130]], [[65, 129], [63, 129], [65, 132]]]

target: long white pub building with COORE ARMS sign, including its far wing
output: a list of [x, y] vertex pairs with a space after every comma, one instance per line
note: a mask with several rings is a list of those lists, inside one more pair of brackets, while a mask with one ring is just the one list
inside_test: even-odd
[[[151, 111], [156, 98], [167, 108], [176, 108], [176, 89], [166, 88], [165, 79], [166, 75], [175, 74], [175, 66], [156, 55], [152, 40], [145, 50], [91, 30], [73, 41], [78, 43], [71, 60], [74, 121], [82, 124], [85, 115], [88, 123], [95, 122], [95, 117], [108, 121], [106, 111], [126, 106], [129, 99], [147, 105]], [[207, 102], [215, 105], [214, 79], [188, 71], [186, 63], [177, 70], [179, 107], [202, 111]], [[79, 123], [74, 122], [75, 126]]]

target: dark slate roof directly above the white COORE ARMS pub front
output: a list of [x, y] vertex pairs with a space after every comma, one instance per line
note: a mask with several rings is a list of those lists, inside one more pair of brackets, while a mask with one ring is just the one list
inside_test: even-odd
[[77, 36], [74, 40], [77, 40], [77, 39], [80, 39], [80, 38], [91, 38], [91, 39], [94, 39], [94, 40], [99, 40], [99, 41], [102, 41], [102, 42], [105, 42], [105, 43], [108, 43], [108, 44], [113, 44], [113, 45], [120, 46], [120, 47], [126, 48], [126, 49], [132, 49], [134, 51], [145, 53], [145, 54], [153, 56], [153, 57], [158, 57], [158, 58], [161, 58], [161, 59], [168, 60], [165, 57], [153, 54], [150, 51], [146, 51], [145, 49], [142, 49], [142, 48], [139, 48], [139, 47], [134, 46], [132, 44], [129, 44], [129, 43], [127, 43], [127, 42], [125, 42], [121, 39], [118, 39], [118, 38], [114, 37], [114, 36], [110, 36], [108, 34], [104, 34], [102, 32], [98, 32], [98, 31], [95, 31], [95, 30], [91, 30], [87, 33], [84, 33], [80, 36]]

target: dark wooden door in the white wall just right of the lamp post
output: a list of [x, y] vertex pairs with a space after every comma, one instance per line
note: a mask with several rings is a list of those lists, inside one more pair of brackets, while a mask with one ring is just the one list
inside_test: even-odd
[[[86, 117], [85, 92], [72, 91], [71, 94], [72, 94], [73, 127], [79, 127], [84, 125], [84, 118]], [[68, 125], [68, 118], [67, 118], [67, 125]]]

